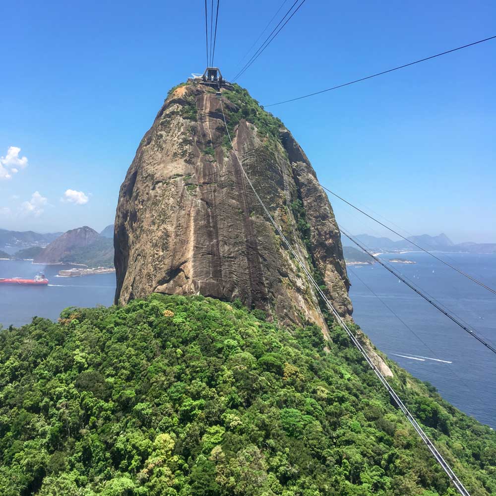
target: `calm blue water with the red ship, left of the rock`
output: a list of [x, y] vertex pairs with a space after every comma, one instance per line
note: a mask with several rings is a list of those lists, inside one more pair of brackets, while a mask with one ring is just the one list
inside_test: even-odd
[[81, 277], [57, 277], [59, 270], [73, 265], [33, 264], [27, 260], [0, 260], [0, 277], [33, 278], [43, 272], [48, 286], [11, 286], [0, 284], [0, 324], [20, 326], [33, 316], [52, 320], [66, 307], [110, 306], [116, 291], [115, 273]]

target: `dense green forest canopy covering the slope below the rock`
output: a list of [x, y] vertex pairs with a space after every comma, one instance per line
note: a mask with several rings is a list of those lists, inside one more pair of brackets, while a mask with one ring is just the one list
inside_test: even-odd
[[[0, 495], [455, 495], [331, 335], [165, 295], [2, 329]], [[387, 363], [471, 495], [495, 496], [496, 434]]]

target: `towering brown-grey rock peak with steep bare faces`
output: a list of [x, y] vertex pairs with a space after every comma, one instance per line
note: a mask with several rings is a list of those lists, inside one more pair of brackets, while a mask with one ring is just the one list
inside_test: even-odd
[[169, 93], [121, 186], [116, 303], [152, 292], [239, 298], [281, 322], [315, 322], [319, 302], [244, 181], [260, 197], [337, 310], [350, 316], [338, 226], [291, 132], [237, 85]]

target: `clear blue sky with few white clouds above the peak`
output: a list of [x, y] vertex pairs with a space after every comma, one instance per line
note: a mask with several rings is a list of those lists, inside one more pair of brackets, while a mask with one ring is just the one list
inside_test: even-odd
[[[215, 62], [227, 79], [281, 1], [221, 1]], [[167, 91], [204, 69], [203, 8], [3, 2], [0, 227], [113, 222]], [[238, 82], [270, 104], [492, 36], [495, 18], [490, 0], [307, 0]], [[495, 76], [496, 40], [268, 110], [350, 201], [410, 233], [496, 242]], [[385, 234], [331, 201], [350, 231]]]

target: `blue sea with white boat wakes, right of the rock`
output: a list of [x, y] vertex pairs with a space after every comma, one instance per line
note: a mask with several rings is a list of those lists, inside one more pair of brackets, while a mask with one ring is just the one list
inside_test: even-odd
[[[436, 255], [449, 257], [446, 260], [452, 265], [496, 288], [496, 254]], [[427, 253], [380, 257], [416, 262], [390, 265], [496, 347], [495, 295]], [[352, 265], [348, 273], [353, 317], [377, 348], [419, 379], [431, 382], [454, 406], [496, 428], [496, 355], [379, 264]]]

